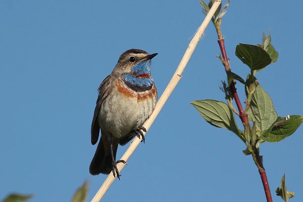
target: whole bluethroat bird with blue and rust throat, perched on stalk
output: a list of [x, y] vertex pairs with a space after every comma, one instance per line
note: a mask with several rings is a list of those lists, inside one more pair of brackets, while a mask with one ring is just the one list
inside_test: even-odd
[[[101, 138], [89, 166], [92, 175], [100, 173], [117, 174], [116, 162], [118, 144], [125, 145], [136, 135], [145, 141], [143, 123], [155, 109], [158, 93], [151, 77], [151, 59], [139, 49], [122, 53], [110, 75], [100, 84], [98, 99], [92, 120], [91, 141], [96, 144], [101, 129]], [[142, 130], [142, 131], [141, 131]]]

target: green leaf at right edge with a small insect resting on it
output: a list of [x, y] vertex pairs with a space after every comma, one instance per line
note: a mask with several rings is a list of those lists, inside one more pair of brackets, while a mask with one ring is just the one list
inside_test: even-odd
[[[274, 126], [279, 121], [285, 121], [281, 126]], [[291, 115], [288, 120], [285, 117], [278, 117], [277, 120], [263, 132], [261, 139], [268, 142], [279, 142], [293, 134], [303, 122], [303, 116]]]

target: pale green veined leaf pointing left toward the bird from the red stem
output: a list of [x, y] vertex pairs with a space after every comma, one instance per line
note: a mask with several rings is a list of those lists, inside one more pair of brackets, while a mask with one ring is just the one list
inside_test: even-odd
[[238, 129], [234, 114], [231, 108], [221, 101], [216, 100], [195, 100], [191, 102], [206, 122], [215, 127], [225, 128], [234, 132], [245, 142], [243, 132]]

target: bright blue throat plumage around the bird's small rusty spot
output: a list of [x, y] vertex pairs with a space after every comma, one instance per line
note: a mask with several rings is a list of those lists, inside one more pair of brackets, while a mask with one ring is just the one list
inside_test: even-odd
[[154, 82], [154, 80], [151, 78], [151, 76], [150, 76], [150, 78], [135, 77], [137, 75], [144, 75], [144, 74], [150, 75], [150, 73], [151, 73], [150, 65], [151, 65], [151, 60], [145, 60], [145, 61], [139, 62], [138, 64], [134, 65], [131, 69], [132, 73], [124, 75], [125, 81], [127, 81], [128, 83], [130, 83], [134, 86], [138, 86], [138, 87], [151, 86]]

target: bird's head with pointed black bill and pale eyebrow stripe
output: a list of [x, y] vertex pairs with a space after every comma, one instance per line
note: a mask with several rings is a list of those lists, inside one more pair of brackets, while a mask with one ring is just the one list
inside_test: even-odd
[[130, 49], [120, 55], [114, 71], [122, 74], [142, 75], [150, 74], [151, 59], [158, 55], [149, 55], [140, 49]]

